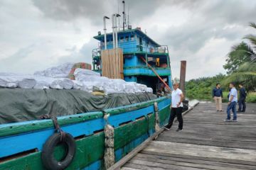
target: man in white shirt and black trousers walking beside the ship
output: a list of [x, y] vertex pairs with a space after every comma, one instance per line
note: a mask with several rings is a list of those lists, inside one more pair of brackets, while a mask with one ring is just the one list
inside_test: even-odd
[[171, 115], [169, 118], [168, 125], [164, 126], [166, 130], [171, 128], [171, 125], [174, 123], [174, 118], [177, 116], [178, 119], [178, 129], [177, 132], [183, 129], [183, 118], [182, 118], [182, 109], [183, 109], [183, 93], [181, 89], [178, 89], [179, 81], [174, 79], [174, 91], [171, 91]]

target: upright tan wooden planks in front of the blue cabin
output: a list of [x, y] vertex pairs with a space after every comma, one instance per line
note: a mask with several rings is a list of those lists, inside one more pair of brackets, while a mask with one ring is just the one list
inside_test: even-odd
[[110, 79], [124, 79], [124, 62], [121, 48], [101, 50], [102, 76]]

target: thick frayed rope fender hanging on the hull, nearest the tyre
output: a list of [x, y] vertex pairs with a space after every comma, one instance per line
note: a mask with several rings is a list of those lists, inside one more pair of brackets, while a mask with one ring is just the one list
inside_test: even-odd
[[110, 117], [110, 114], [107, 114], [105, 111], [102, 111], [102, 113], [104, 114], [104, 120], [105, 120], [105, 127], [104, 127], [105, 155], [104, 155], [104, 161], [105, 161], [105, 169], [109, 169], [110, 166], [112, 166], [114, 164], [114, 128], [108, 122], [108, 118]]

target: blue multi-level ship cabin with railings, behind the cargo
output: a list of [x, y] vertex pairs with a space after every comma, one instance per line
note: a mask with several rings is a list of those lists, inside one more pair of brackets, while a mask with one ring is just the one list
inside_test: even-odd
[[[105, 35], [99, 32], [94, 37], [99, 40], [99, 47], [92, 50], [92, 65], [95, 72], [101, 73], [101, 51], [105, 49]], [[107, 33], [107, 49], [113, 48], [112, 33]], [[125, 81], [145, 84], [153, 89], [154, 94], [161, 89], [162, 83], [146, 64], [151, 65], [159, 76], [171, 86], [171, 67], [167, 45], [159, 45], [149, 38], [140, 28], [120, 30], [117, 33], [118, 47], [123, 51], [123, 73]], [[146, 62], [142, 60], [142, 57]]]

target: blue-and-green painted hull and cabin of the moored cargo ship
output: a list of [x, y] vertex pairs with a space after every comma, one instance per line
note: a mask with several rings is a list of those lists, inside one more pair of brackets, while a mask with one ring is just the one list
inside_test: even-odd
[[[94, 37], [100, 41], [100, 47], [92, 50], [93, 70], [102, 73], [103, 50], [119, 48], [123, 54], [125, 81], [145, 84], [154, 93], [161, 89], [161, 79], [171, 85], [168, 47], [149, 38], [141, 28], [124, 28], [124, 25], [123, 30], [104, 35], [98, 33]], [[162, 96], [102, 111], [60, 115], [56, 121], [69, 142], [66, 138], [60, 139], [60, 129], [56, 131], [56, 122], [51, 119], [1, 124], [0, 169], [106, 169], [107, 149], [112, 149], [113, 164], [118, 162], [166, 125], [170, 106], [171, 98]], [[108, 139], [106, 125], [114, 130], [112, 147], [105, 143]], [[54, 137], [60, 140], [50, 143]]]

